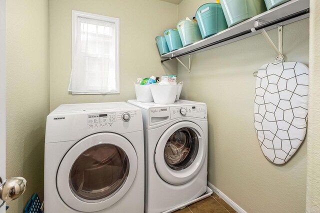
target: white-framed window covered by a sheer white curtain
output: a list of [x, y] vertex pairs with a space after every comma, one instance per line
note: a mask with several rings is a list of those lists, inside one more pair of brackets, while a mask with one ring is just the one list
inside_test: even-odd
[[72, 94], [119, 93], [119, 19], [72, 10]]

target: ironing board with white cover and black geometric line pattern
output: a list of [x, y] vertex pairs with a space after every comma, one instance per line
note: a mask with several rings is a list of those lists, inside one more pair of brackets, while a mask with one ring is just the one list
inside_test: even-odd
[[302, 143], [308, 114], [308, 67], [268, 63], [257, 73], [254, 127], [264, 156], [283, 164]]

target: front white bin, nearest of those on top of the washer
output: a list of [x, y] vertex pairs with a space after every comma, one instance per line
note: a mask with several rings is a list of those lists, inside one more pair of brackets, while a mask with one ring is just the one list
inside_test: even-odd
[[177, 84], [163, 84], [152, 85], [151, 93], [155, 103], [171, 104], [174, 103], [180, 85]]

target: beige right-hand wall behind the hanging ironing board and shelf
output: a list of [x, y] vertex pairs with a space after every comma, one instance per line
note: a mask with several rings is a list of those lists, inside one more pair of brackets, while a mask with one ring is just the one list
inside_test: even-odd
[[[205, 2], [183, 0], [179, 19]], [[276, 42], [276, 30], [268, 33]], [[308, 35], [308, 19], [284, 26], [286, 61], [308, 65]], [[263, 156], [253, 126], [252, 73], [274, 57], [259, 34], [192, 55], [191, 73], [178, 65], [178, 79], [182, 98], [207, 103], [208, 181], [247, 212], [304, 212], [306, 141], [278, 166]]]

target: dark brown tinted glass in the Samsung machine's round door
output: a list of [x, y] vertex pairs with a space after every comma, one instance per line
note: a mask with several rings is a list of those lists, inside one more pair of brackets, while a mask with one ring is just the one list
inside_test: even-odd
[[129, 172], [125, 152], [112, 144], [99, 144], [85, 150], [73, 163], [69, 184], [84, 199], [109, 196], [124, 183]]

